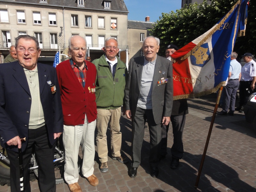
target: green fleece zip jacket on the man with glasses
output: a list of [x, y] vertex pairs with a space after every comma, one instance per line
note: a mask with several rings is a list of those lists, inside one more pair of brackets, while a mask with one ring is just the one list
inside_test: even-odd
[[105, 54], [92, 61], [96, 66], [96, 104], [99, 109], [115, 109], [123, 105], [125, 82], [128, 71], [125, 64], [117, 58], [116, 73], [113, 79]]

